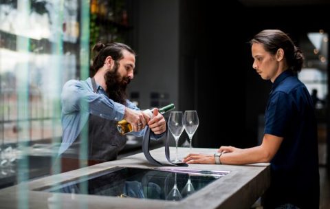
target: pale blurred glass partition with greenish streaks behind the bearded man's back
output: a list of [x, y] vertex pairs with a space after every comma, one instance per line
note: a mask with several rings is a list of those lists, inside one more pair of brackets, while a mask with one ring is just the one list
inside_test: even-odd
[[50, 174], [61, 89], [88, 76], [89, 1], [1, 1], [0, 188]]

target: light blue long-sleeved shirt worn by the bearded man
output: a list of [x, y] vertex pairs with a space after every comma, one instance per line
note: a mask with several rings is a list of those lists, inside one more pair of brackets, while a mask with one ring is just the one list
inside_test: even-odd
[[[87, 80], [69, 80], [63, 86], [61, 94], [63, 136], [58, 155], [64, 153], [76, 140], [89, 114], [98, 115], [107, 120], [120, 121], [124, 118], [125, 106], [111, 100], [104, 89], [97, 85], [98, 94], [94, 93], [91, 78]], [[126, 100], [126, 107], [139, 110], [133, 102]], [[135, 136], [144, 135], [145, 129], [133, 132]], [[151, 138], [162, 135], [152, 133]]]

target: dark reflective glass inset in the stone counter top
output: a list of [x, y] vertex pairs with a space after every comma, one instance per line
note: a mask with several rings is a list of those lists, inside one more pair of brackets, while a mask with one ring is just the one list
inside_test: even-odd
[[[73, 181], [65, 181], [59, 186], [41, 189], [47, 192], [69, 194], [101, 195], [113, 197], [134, 197], [140, 199], [170, 200], [170, 191], [177, 188], [176, 195], [181, 200], [193, 192], [225, 176], [228, 172], [206, 173], [205, 170], [155, 170], [146, 168], [116, 167]], [[84, 185], [85, 184], [85, 185]], [[190, 184], [190, 192], [186, 192]], [[86, 188], [85, 190], [83, 188]], [[192, 191], [193, 190], [193, 191]]]

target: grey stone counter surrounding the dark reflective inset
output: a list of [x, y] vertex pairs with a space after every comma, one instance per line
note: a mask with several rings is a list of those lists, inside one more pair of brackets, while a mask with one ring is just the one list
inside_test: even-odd
[[[179, 148], [179, 159], [188, 153], [188, 148]], [[194, 153], [214, 153], [214, 148], [192, 148]], [[170, 147], [171, 158], [175, 148]], [[151, 151], [155, 159], [166, 162], [164, 147]], [[269, 164], [246, 166], [190, 164], [188, 168], [202, 170], [230, 171], [224, 177], [213, 181], [181, 201], [105, 197], [43, 192], [54, 184], [93, 175], [115, 166], [155, 168], [149, 164], [143, 153], [131, 155], [112, 162], [105, 162], [67, 173], [52, 175], [21, 183], [0, 190], [0, 208], [250, 208], [270, 185]], [[173, 166], [164, 166], [173, 168]], [[185, 167], [187, 168], [187, 167]]]

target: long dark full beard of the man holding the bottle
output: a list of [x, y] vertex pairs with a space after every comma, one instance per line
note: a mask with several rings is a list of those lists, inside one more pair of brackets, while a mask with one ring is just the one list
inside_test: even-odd
[[113, 70], [107, 72], [104, 75], [105, 84], [107, 85], [107, 95], [111, 100], [118, 102], [120, 104], [126, 105], [126, 88], [127, 85], [131, 82], [129, 77], [121, 78], [118, 74], [119, 65], [115, 62]]

